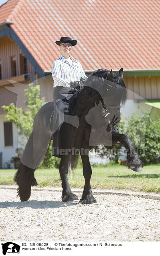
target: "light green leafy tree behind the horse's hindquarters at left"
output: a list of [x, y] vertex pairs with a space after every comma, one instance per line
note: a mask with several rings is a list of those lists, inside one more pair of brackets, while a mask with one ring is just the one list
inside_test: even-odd
[[[39, 98], [40, 85], [34, 87], [33, 83], [30, 83], [29, 88], [24, 90], [24, 95], [27, 97], [27, 100], [24, 101], [24, 103], [28, 110], [24, 110], [21, 107], [15, 107], [14, 103], [10, 103], [9, 106], [4, 105], [2, 108], [7, 112], [6, 118], [18, 128], [18, 134], [25, 136], [26, 140], [28, 140], [33, 129], [34, 117], [45, 102], [45, 97], [41, 99]], [[59, 159], [52, 157], [50, 145], [42, 167], [53, 168], [57, 167], [59, 164]]]

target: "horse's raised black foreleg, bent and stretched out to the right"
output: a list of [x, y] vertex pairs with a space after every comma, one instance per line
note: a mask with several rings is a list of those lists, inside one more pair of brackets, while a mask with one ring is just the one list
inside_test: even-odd
[[143, 167], [144, 164], [138, 158], [138, 154], [132, 146], [130, 138], [125, 134], [119, 134], [113, 131], [112, 144], [114, 145], [117, 143], [122, 143], [122, 145], [127, 149], [128, 169], [132, 169], [133, 171], [142, 171], [141, 167]]

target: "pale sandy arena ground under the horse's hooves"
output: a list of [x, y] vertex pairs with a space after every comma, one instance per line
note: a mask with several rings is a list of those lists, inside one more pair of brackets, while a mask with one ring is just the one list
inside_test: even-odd
[[[81, 192], [75, 193], [81, 198]], [[97, 203], [61, 202], [61, 191], [0, 188], [1, 241], [160, 241], [160, 200], [95, 195]]]

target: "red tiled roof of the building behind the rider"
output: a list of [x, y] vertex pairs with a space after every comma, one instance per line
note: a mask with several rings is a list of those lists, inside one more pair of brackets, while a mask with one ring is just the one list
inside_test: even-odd
[[43, 70], [59, 58], [62, 36], [77, 39], [71, 55], [84, 70], [160, 67], [159, 0], [8, 0], [4, 21]]

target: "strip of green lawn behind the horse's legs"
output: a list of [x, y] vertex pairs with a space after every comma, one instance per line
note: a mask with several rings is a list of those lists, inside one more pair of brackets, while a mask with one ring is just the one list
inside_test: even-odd
[[[145, 192], [160, 192], [160, 164], [147, 165], [142, 172], [134, 172], [122, 165], [108, 165], [107, 167], [93, 167], [91, 187], [97, 189], [125, 189]], [[12, 185], [14, 169], [0, 170], [0, 185]], [[35, 178], [39, 187], [61, 186], [58, 169], [37, 169]], [[68, 175], [71, 188], [83, 188], [84, 178], [82, 168], [78, 168], [72, 175]]]

